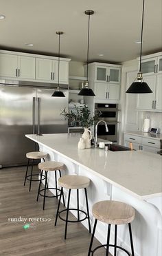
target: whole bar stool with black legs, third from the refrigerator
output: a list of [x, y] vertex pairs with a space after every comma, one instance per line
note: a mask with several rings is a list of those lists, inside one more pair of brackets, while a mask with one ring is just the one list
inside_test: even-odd
[[[90, 180], [87, 177], [84, 176], [78, 176], [78, 175], [65, 175], [62, 178], [58, 179], [58, 184], [61, 186], [61, 192], [60, 192], [60, 198], [58, 201], [58, 209], [56, 213], [56, 220], [55, 220], [55, 226], [57, 224], [58, 217], [60, 217], [60, 220], [63, 220], [65, 222], [65, 239], [67, 239], [67, 224], [68, 222], [82, 222], [83, 220], [88, 219], [89, 223], [89, 233], [91, 233], [91, 225], [90, 225], [90, 218], [89, 218], [89, 204], [88, 204], [88, 198], [87, 198], [87, 192], [86, 187], [89, 186]], [[68, 200], [67, 200], [67, 209], [59, 211], [60, 210], [60, 200], [63, 195], [63, 188], [69, 189], [68, 194]], [[77, 190], [77, 209], [69, 208], [70, 204], [70, 195], [71, 195], [71, 189]], [[84, 189], [85, 192], [85, 199], [86, 199], [86, 212], [79, 209], [79, 189]], [[78, 220], [69, 220], [69, 211], [77, 211], [78, 213]], [[66, 219], [61, 216], [61, 213], [66, 212]], [[82, 217], [80, 220], [80, 213], [84, 213], [85, 217]]]

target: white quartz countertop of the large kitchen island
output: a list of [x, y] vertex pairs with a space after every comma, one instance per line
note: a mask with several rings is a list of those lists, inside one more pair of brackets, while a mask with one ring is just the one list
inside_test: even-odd
[[162, 158], [146, 151], [78, 149], [78, 134], [26, 135], [141, 200], [162, 195]]

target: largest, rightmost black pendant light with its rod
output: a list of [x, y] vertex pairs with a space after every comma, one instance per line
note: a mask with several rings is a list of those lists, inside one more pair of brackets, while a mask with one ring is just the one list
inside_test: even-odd
[[[137, 74], [137, 78], [127, 89], [127, 94], [150, 94], [152, 90], [148, 86], [146, 82], [143, 81], [143, 76], [141, 72], [141, 52], [142, 52], [142, 43], [143, 43], [143, 19], [144, 19], [144, 6], [145, 0], [143, 0], [143, 10], [142, 10], [142, 24], [141, 24], [141, 50], [140, 50], [140, 61], [139, 61], [139, 73]], [[137, 81], [136, 81], [137, 80]]]

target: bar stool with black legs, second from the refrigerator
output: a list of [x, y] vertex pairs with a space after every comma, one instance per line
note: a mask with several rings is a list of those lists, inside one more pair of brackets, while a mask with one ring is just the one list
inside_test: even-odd
[[[38, 187], [38, 194], [37, 194], [37, 199], [36, 201], [38, 202], [39, 195], [43, 196], [43, 210], [45, 210], [45, 198], [58, 198], [60, 194], [58, 194], [58, 191], [61, 191], [58, 189], [58, 184], [57, 184], [57, 174], [56, 171], [59, 171], [60, 177], [61, 177], [61, 171], [62, 169], [65, 169], [65, 165], [62, 164], [62, 162], [56, 162], [56, 161], [47, 161], [47, 162], [40, 162], [38, 164], [38, 169], [41, 170], [40, 172], [40, 182], [39, 182], [39, 187]], [[41, 182], [42, 182], [42, 177], [43, 177], [43, 171], [45, 171], [45, 188], [40, 189]], [[54, 171], [55, 172], [55, 187], [49, 188], [47, 184], [47, 174], [48, 171]], [[56, 195], [46, 195], [47, 190], [49, 189], [54, 189], [56, 191]], [[42, 194], [41, 192], [44, 191]], [[65, 205], [65, 199], [63, 195], [63, 204]]]

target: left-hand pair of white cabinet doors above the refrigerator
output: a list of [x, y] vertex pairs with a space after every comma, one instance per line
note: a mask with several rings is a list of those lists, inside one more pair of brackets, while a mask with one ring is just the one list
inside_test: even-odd
[[35, 79], [35, 58], [0, 53], [0, 76]]

